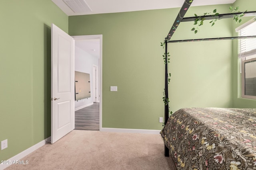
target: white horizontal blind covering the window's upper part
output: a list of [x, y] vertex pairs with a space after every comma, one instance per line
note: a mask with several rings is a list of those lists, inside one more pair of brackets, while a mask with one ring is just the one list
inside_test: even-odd
[[[256, 22], [242, 28], [238, 32], [239, 36], [251, 36], [256, 35]], [[256, 38], [240, 39], [238, 41], [239, 52], [238, 57], [248, 57], [250, 55], [256, 55]]]

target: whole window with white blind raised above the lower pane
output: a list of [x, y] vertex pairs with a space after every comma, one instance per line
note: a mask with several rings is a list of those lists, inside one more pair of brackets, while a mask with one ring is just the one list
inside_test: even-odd
[[[238, 34], [256, 35], [256, 22], [243, 27]], [[256, 38], [240, 39], [238, 45], [238, 57], [242, 65], [242, 97], [256, 99]]]

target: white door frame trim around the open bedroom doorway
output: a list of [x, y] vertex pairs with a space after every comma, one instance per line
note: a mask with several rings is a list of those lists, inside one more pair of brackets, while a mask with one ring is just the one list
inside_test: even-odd
[[[98, 72], [100, 77], [98, 80], [99, 83], [99, 100], [100, 100], [100, 131], [102, 131], [102, 34], [100, 35], [76, 35], [71, 36], [74, 40], [88, 40], [88, 39], [100, 39], [100, 59], [98, 64]], [[76, 54], [75, 54], [76, 55]]]

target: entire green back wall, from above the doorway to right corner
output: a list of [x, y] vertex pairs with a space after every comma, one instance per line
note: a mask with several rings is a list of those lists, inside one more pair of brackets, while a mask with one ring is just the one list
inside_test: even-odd
[[[191, 7], [189, 16], [230, 5]], [[69, 17], [70, 35], [103, 35], [102, 127], [161, 129], [164, 117], [164, 41], [179, 8]], [[188, 11], [188, 12], [189, 12]], [[174, 39], [232, 35], [230, 19], [205, 25], [194, 35], [182, 23]], [[172, 55], [170, 107], [232, 107], [232, 41], [176, 43]], [[118, 92], [110, 92], [118, 86]]]

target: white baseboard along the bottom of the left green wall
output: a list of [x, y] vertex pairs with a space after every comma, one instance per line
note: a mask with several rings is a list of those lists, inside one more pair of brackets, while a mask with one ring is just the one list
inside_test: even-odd
[[[51, 141], [51, 137], [48, 137], [47, 139], [44, 139], [43, 141], [37, 143], [36, 145], [34, 145], [34, 146], [32, 146], [32, 147], [30, 147], [30, 148], [20, 152], [19, 154], [16, 154], [12, 158], [6, 160], [6, 162], [8, 162], [10, 164], [1, 164], [1, 162], [0, 162], [0, 170], [3, 170], [4, 168], [7, 168], [8, 166], [12, 165], [12, 162], [16, 162], [17, 160], [20, 160], [20, 159], [24, 158], [28, 154], [34, 152], [36, 149], [44, 146], [49, 141]], [[24, 162], [25, 161], [26, 160], [24, 160]]]

